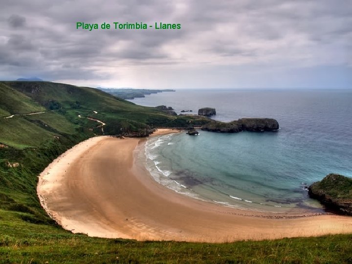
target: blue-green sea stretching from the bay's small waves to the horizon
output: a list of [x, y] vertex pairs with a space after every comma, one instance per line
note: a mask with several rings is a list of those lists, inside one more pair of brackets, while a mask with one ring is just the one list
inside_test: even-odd
[[185, 132], [150, 138], [141, 159], [176, 192], [256, 211], [319, 210], [306, 187], [329, 173], [352, 176], [352, 89], [177, 90], [136, 98], [176, 112], [213, 107], [221, 121], [275, 118], [278, 132]]

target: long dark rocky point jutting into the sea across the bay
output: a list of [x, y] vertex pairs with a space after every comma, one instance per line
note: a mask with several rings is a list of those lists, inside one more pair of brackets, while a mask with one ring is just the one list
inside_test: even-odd
[[279, 123], [272, 118], [241, 118], [224, 123], [213, 120], [201, 127], [205, 131], [237, 133], [241, 131], [277, 131]]

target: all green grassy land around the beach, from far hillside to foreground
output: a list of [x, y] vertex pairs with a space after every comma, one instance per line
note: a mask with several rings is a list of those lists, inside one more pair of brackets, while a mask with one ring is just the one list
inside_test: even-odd
[[[182, 126], [195, 122], [136, 106], [96, 89], [36, 82], [0, 83], [22, 113], [44, 114], [0, 119], [0, 263], [350, 263], [352, 236], [284, 239], [225, 244], [135, 242], [73, 235], [57, 226], [36, 196], [37, 175], [56, 156], [99, 132], [94, 121], [109, 122], [106, 131], [145, 126]], [[15, 89], [15, 90], [14, 90]], [[32, 93], [34, 91], [34, 93]], [[39, 103], [39, 104], [38, 104]], [[5, 109], [5, 103], [0, 109]], [[28, 109], [26, 109], [28, 106]], [[98, 111], [94, 114], [92, 110]], [[7, 110], [6, 110], [7, 111]], [[197, 121], [201, 122], [201, 121]], [[53, 135], [60, 136], [59, 139]], [[9, 168], [5, 161], [19, 162]]]

